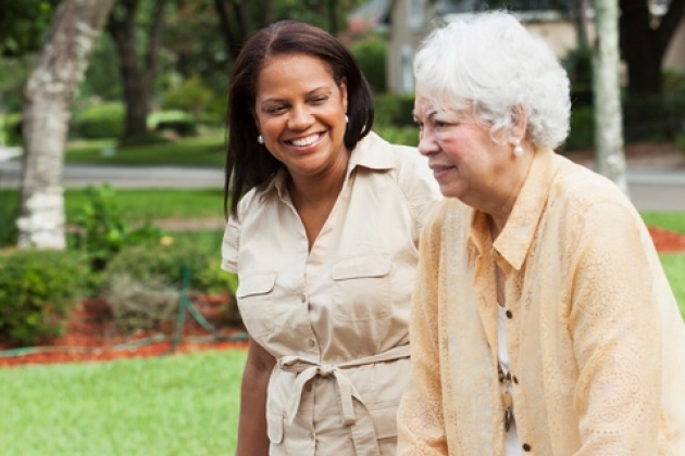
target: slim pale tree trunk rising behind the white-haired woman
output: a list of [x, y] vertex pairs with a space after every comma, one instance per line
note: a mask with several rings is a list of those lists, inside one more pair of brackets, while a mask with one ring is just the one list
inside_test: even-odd
[[613, 180], [627, 194], [619, 84], [618, 0], [595, 1], [595, 161], [597, 172]]

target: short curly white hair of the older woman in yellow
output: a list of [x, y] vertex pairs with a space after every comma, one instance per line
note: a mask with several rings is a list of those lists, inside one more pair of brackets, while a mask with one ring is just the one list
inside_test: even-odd
[[[519, 115], [526, 138], [556, 149], [569, 134], [569, 77], [556, 55], [511, 14], [464, 15], [435, 29], [414, 58], [416, 96], [434, 107], [471, 110], [498, 142]], [[499, 139], [496, 139], [499, 138]]]

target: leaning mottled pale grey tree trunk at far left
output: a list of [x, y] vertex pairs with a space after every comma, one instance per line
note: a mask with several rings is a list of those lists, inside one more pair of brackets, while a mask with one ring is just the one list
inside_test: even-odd
[[64, 145], [71, 104], [113, 0], [63, 0], [24, 89], [20, 248], [64, 249]]

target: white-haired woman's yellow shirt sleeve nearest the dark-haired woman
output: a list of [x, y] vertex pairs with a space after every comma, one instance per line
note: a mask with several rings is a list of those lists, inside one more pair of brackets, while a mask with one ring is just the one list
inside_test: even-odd
[[438, 343], [439, 224], [427, 223], [410, 319], [411, 378], [398, 410], [398, 455], [447, 455]]

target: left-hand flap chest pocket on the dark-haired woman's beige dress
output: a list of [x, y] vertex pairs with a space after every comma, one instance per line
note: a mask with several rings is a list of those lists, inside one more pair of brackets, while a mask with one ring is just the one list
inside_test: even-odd
[[240, 317], [252, 338], [274, 330], [274, 288], [277, 274], [257, 274], [240, 278], [236, 300]]

